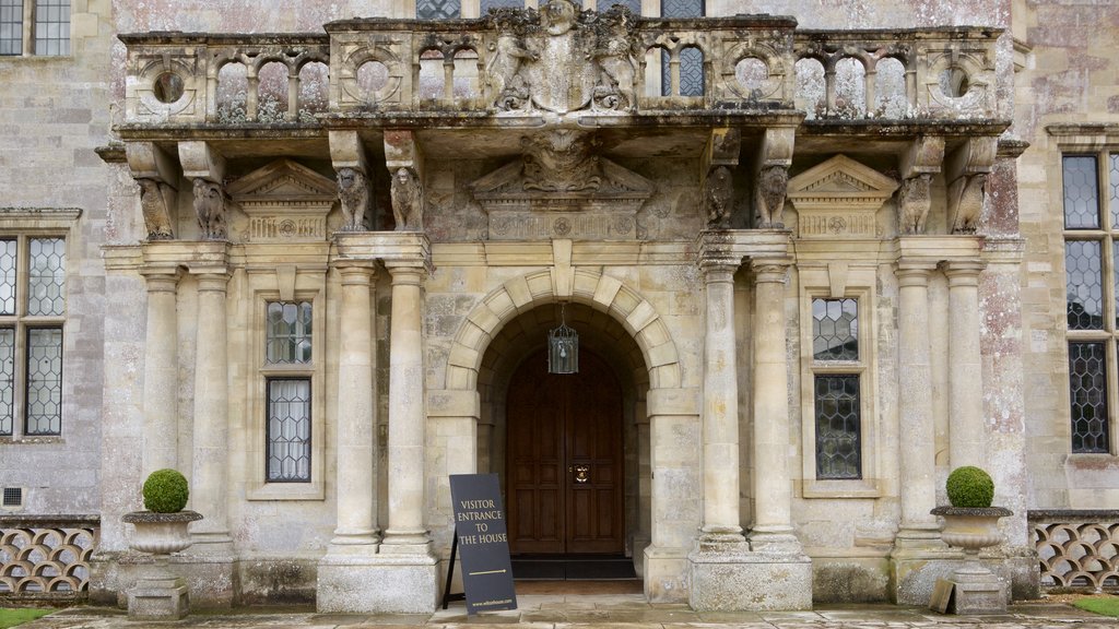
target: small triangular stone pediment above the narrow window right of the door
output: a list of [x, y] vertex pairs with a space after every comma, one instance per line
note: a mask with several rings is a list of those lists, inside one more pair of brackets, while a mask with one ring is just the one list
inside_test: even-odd
[[789, 179], [789, 200], [827, 203], [863, 200], [881, 206], [897, 189], [897, 181], [847, 156], [836, 156]]

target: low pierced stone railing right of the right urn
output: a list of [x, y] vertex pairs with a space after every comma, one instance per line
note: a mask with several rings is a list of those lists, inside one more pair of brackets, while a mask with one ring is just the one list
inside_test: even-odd
[[1119, 589], [1119, 510], [1034, 510], [1027, 520], [1043, 588]]

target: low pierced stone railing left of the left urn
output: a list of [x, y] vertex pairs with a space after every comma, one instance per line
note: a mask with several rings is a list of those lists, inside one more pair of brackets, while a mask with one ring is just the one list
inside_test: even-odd
[[0, 516], [0, 601], [85, 597], [100, 527], [98, 516]]

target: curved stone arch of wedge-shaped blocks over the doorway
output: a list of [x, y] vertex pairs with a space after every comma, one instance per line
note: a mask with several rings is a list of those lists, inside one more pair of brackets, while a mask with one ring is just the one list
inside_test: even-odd
[[482, 298], [467, 316], [451, 345], [446, 388], [477, 391], [486, 348], [501, 328], [537, 306], [562, 300], [589, 306], [622, 325], [641, 350], [649, 372], [649, 388], [680, 386], [676, 344], [651, 303], [621, 280], [599, 270], [576, 269], [566, 282], [562, 275], [564, 273], [556, 270], [528, 273], [505, 282]]

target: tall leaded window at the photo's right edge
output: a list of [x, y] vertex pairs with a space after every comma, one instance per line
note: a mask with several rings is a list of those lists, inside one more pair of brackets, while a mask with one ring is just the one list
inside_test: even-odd
[[1062, 159], [1073, 452], [1110, 452], [1119, 340], [1119, 152]]

